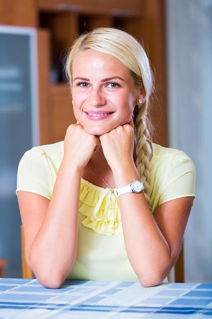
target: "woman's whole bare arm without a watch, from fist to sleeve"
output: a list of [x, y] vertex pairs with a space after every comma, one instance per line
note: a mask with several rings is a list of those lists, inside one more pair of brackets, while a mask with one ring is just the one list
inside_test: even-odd
[[18, 191], [26, 260], [46, 287], [60, 287], [73, 268], [81, 174], [98, 144], [80, 125], [70, 125], [51, 200]]

